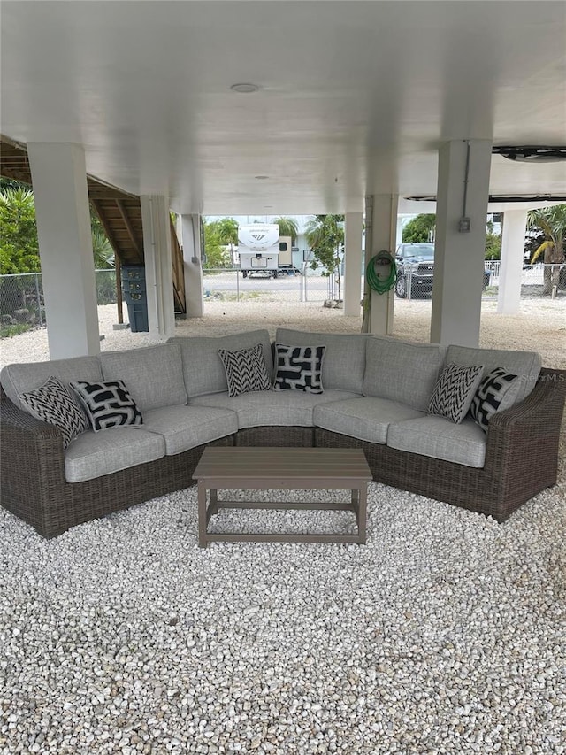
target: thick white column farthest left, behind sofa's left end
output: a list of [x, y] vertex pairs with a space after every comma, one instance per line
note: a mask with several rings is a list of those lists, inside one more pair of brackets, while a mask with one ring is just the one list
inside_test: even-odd
[[51, 359], [100, 352], [84, 150], [28, 143]]

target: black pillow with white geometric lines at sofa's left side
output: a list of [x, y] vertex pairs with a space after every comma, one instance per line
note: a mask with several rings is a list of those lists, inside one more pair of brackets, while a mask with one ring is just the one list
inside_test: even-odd
[[122, 425], [143, 424], [142, 414], [123, 381], [72, 381], [69, 385], [80, 398], [96, 433]]

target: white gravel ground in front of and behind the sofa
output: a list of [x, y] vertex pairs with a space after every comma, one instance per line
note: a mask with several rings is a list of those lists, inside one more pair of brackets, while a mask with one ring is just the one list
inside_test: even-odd
[[[516, 319], [487, 306], [482, 344], [563, 366], [555, 304]], [[427, 340], [427, 307], [397, 303], [396, 335]], [[319, 304], [250, 308], [207, 303], [178, 327], [359, 331]], [[103, 349], [147, 343], [111, 329], [113, 307], [102, 321]], [[3, 342], [2, 363], [47, 358], [42, 338]], [[562, 755], [563, 451], [555, 488], [503, 525], [371, 483], [366, 546], [202, 550], [195, 489], [53, 541], [0, 509], [0, 752]], [[347, 513], [247, 515], [351, 526]]]

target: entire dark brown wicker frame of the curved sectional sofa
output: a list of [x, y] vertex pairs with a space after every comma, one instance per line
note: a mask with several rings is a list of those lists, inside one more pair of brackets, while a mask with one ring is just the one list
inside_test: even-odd
[[[203, 446], [88, 482], [66, 482], [60, 431], [22, 412], [0, 391], [2, 505], [44, 537], [195, 484]], [[320, 428], [246, 428], [214, 444], [363, 448], [376, 482], [504, 521], [555, 484], [565, 399], [566, 371], [543, 368], [524, 401], [492, 418], [482, 468]]]

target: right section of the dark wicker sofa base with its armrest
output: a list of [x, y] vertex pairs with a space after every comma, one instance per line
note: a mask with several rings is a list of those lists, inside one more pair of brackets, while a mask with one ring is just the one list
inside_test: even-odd
[[566, 371], [543, 368], [532, 393], [493, 415], [481, 468], [317, 428], [317, 446], [363, 448], [376, 482], [504, 521], [556, 482]]

